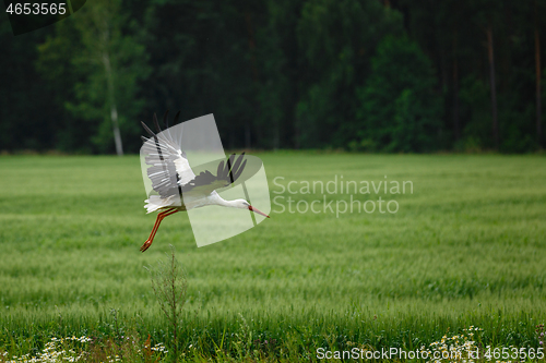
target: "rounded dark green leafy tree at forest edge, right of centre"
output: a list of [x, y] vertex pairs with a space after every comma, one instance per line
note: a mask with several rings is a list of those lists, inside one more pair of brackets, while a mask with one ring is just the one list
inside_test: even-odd
[[385, 37], [371, 64], [371, 75], [358, 92], [359, 140], [372, 141], [384, 152], [436, 149], [441, 99], [428, 58], [406, 37]]

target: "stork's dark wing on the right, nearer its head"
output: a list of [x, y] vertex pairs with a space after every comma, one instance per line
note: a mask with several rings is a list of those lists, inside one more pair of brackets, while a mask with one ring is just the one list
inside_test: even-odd
[[217, 189], [235, 183], [247, 165], [247, 160], [244, 160], [244, 158], [245, 153], [239, 155], [237, 160], [235, 160], [235, 154], [232, 154], [226, 162], [221, 161], [218, 164], [216, 176], [209, 170], [202, 171], [193, 180], [182, 186], [182, 193], [209, 195]]

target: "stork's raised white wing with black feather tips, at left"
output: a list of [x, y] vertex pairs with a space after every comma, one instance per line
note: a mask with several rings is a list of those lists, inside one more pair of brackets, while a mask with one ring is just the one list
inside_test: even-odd
[[[165, 131], [162, 131], [157, 117], [154, 113], [154, 124], [157, 133], [142, 122], [142, 125], [150, 134], [150, 138], [142, 136], [144, 141], [143, 150], [147, 155], [145, 162], [147, 177], [152, 181], [152, 187], [162, 198], [180, 193], [180, 187], [188, 184], [195, 178], [190, 164], [182, 152], [180, 141], [173, 137], [168, 130], [168, 111], [165, 112]], [[175, 123], [178, 121], [180, 112], [175, 116]]]

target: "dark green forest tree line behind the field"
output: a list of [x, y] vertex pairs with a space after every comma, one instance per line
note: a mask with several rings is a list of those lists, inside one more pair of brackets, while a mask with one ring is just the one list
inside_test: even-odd
[[214, 113], [226, 148], [544, 147], [544, 0], [95, 0], [0, 23], [0, 150], [136, 153]]

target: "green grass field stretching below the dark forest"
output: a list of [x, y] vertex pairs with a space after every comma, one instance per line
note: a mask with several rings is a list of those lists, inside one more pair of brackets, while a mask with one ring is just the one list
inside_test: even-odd
[[[395, 199], [394, 214], [336, 217], [322, 204], [318, 214], [278, 213], [272, 204], [271, 219], [201, 249], [187, 215], [175, 214], [140, 253], [155, 215], [143, 208], [136, 156], [0, 157], [0, 362], [72, 335], [122, 349], [121, 336], [144, 342], [150, 334], [169, 348], [173, 331], [143, 268], [169, 244], [188, 278], [185, 359], [309, 361], [320, 347], [416, 349], [471, 325], [484, 329], [484, 346], [538, 347], [535, 326], [546, 320], [544, 157], [259, 156], [272, 199], [325, 195], [335, 207], [351, 195], [278, 194], [276, 185], [297, 181], [292, 187], [299, 190], [301, 181], [325, 184], [335, 176], [376, 185], [411, 181], [413, 193], [370, 187], [353, 195]], [[275, 184], [276, 177], [284, 179]]]

